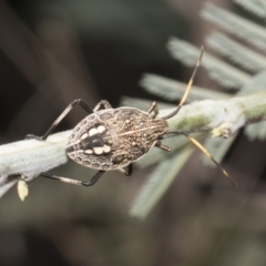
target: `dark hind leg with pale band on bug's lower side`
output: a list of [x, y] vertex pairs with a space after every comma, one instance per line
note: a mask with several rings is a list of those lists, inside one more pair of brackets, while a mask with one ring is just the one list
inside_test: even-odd
[[[94, 176], [92, 176], [92, 178], [89, 181], [89, 182], [85, 182], [85, 181], [78, 181], [78, 180], [71, 180], [71, 178], [68, 178], [68, 177], [62, 177], [62, 176], [58, 176], [58, 175], [52, 175], [48, 172], [43, 172], [43, 173], [40, 173], [39, 176], [43, 176], [43, 177], [47, 177], [47, 178], [51, 178], [51, 180], [55, 180], [55, 181], [60, 181], [60, 182], [63, 182], [63, 183], [69, 183], [69, 184], [73, 184], [73, 185], [83, 185], [83, 186], [92, 186], [94, 185], [98, 180], [105, 173], [105, 171], [99, 171]], [[30, 183], [32, 182], [33, 180], [29, 180], [29, 181], [25, 181], [25, 183]]]

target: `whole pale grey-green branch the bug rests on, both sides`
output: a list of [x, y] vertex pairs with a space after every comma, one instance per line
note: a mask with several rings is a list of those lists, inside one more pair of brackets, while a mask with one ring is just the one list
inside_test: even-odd
[[[162, 110], [160, 116], [170, 113]], [[245, 124], [266, 119], [266, 91], [226, 100], [204, 100], [183, 106], [167, 121], [170, 129], [184, 133], [213, 131], [228, 137]], [[34, 177], [68, 162], [65, 142], [71, 131], [53, 134], [47, 141], [24, 140], [0, 146], [0, 196], [18, 176]]]

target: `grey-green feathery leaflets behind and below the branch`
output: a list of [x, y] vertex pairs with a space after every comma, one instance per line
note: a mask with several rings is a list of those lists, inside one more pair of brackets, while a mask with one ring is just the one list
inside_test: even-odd
[[[237, 4], [247, 9], [252, 13], [259, 18], [265, 18], [266, 4], [258, 0], [235, 0]], [[254, 45], [256, 49], [266, 49], [266, 29], [265, 25], [262, 27], [236, 16], [229, 11], [221, 9], [213, 3], [206, 3], [201, 11], [201, 17], [212, 23], [217, 24], [223, 30], [227, 31], [232, 35], [244, 40], [245, 42]], [[222, 86], [226, 89], [237, 89], [236, 94], [245, 94], [254, 91], [262, 91], [266, 88], [266, 58], [255, 52], [252, 48], [247, 48], [229, 37], [223, 33], [214, 32], [206, 38], [207, 47], [212, 48], [214, 51], [218, 52], [226, 59], [228, 59], [234, 64], [239, 65], [247, 73], [238, 68], [224, 62], [216, 57], [204, 52], [202, 60], [202, 68], [206, 69], [209, 76], [217, 81]], [[200, 49], [195, 45], [180, 40], [177, 38], [171, 38], [167, 48], [173, 58], [177, 59], [187, 66], [194, 66], [200, 54]], [[166, 78], [161, 78], [158, 75], [146, 74], [141, 81], [141, 85], [147, 90], [150, 93], [160, 95], [165, 100], [175, 100], [181, 98], [186, 84], [172, 81]], [[193, 86], [188, 101], [194, 101], [198, 99], [223, 99], [229, 96], [228, 94], [212, 92], [207, 89]], [[134, 102], [131, 102], [135, 105]], [[137, 103], [137, 102], [135, 102]], [[266, 139], [266, 123], [260, 122], [257, 124], [249, 125], [245, 129], [245, 134], [249, 140], [265, 140]], [[236, 135], [229, 140], [211, 140], [206, 142], [206, 149], [214, 155], [214, 157], [221, 162], [227, 151], [229, 150], [232, 143], [234, 142]], [[180, 140], [170, 140], [168, 145], [172, 146], [176, 144]], [[174, 146], [175, 153], [171, 155], [171, 158], [165, 160], [165, 153], [160, 153], [160, 155], [154, 155], [153, 152], [147, 154], [146, 157], [139, 165], [149, 166], [158, 161], [162, 163], [157, 165], [150, 175], [147, 183], [143, 186], [139, 196], [134, 201], [131, 209], [131, 215], [144, 218], [157, 201], [166, 192], [174, 177], [181, 171], [182, 165], [188, 160], [192, 153], [191, 147], [184, 147], [186, 141]], [[186, 145], [185, 145], [186, 146]], [[206, 160], [209, 162], [209, 160]]]

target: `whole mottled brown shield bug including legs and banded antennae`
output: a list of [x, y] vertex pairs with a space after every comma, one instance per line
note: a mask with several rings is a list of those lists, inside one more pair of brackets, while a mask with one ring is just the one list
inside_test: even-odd
[[[170, 130], [167, 126], [166, 121], [178, 113], [188, 95], [202, 55], [203, 48], [180, 104], [172, 113], [163, 117], [157, 117], [158, 109], [156, 102], [153, 102], [149, 110], [144, 112], [134, 108], [113, 109], [110, 103], [104, 100], [92, 110], [83, 100], [74, 100], [53, 122], [43, 136], [28, 135], [27, 139], [44, 141], [65, 115], [75, 105], [80, 105], [89, 115], [73, 129], [68, 139], [65, 152], [74, 162], [98, 170], [98, 173], [89, 182], [55, 176], [50, 173], [40, 173], [40, 175], [64, 183], [84, 186], [95, 184], [104, 172], [111, 170], [117, 170], [125, 175], [131, 175], [133, 172], [132, 163], [144, 156], [151, 147], [156, 146], [167, 152], [171, 151], [168, 146], [161, 142], [165, 135], [183, 134], [200, 147], [206, 156], [213, 160], [224, 175], [236, 186], [227, 172], [195, 139], [183, 132]], [[31, 181], [27, 181], [27, 183]]]

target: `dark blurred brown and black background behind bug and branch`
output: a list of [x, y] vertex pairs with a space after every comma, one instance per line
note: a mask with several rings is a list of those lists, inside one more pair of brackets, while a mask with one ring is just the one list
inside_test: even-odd
[[[0, 143], [43, 134], [78, 98], [114, 108], [123, 95], [158, 100], [139, 86], [145, 72], [187, 82], [192, 69], [166, 42], [204, 44], [212, 27], [198, 17], [203, 2], [1, 0]], [[204, 70], [195, 83], [221, 90]], [[76, 109], [58, 130], [84, 115]], [[38, 178], [24, 203], [13, 187], [0, 201], [0, 265], [266, 265], [265, 147], [237, 136], [223, 162], [237, 192], [195, 152], [144, 221], [129, 209], [152, 166], [106, 173], [90, 188]], [[89, 180], [94, 171], [70, 162], [52, 173]]]

